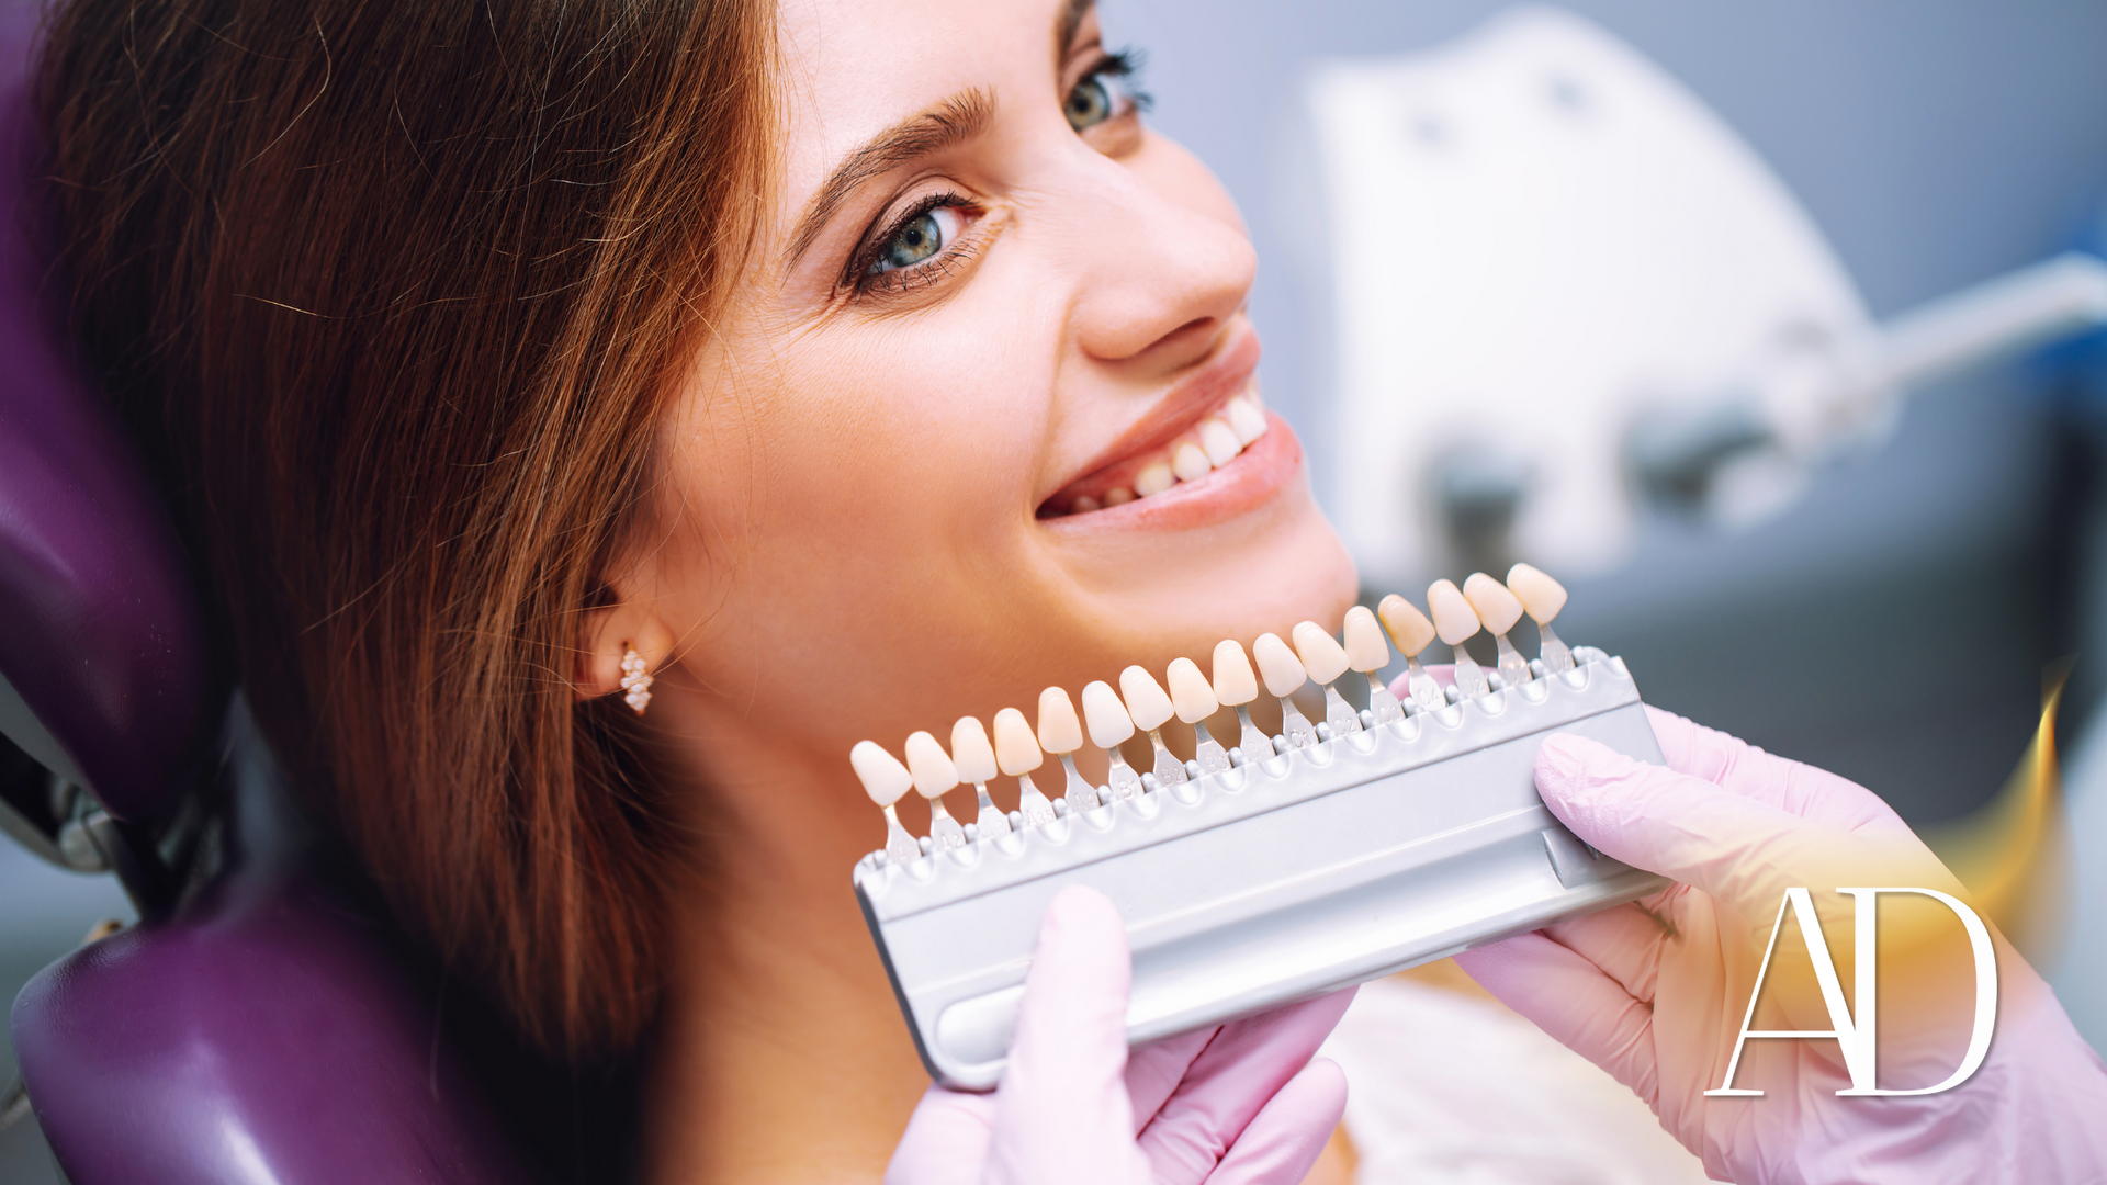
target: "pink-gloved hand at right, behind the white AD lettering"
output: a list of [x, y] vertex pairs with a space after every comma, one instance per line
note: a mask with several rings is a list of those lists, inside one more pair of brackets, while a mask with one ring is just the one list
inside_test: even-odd
[[[1852, 898], [1839, 886], [1966, 890], [1863, 786], [1648, 708], [1667, 768], [1553, 736], [1536, 786], [1597, 850], [1681, 881], [1650, 898], [1458, 955], [1515, 1012], [1633, 1088], [1721, 1181], [2107, 1181], [2107, 1069], [2002, 936], [1989, 1056], [1943, 1094], [1867, 1099], [1833, 1040], [1749, 1040], [1724, 1086], [1787, 886], [1812, 890], [1852, 995]], [[1787, 919], [1751, 1029], [1829, 1029]], [[1943, 1082], [1974, 1021], [1960, 921], [1879, 898], [1879, 1086]], [[1799, 968], [1795, 972], [1793, 968]], [[1856, 1006], [1854, 1006], [1856, 1008]]]

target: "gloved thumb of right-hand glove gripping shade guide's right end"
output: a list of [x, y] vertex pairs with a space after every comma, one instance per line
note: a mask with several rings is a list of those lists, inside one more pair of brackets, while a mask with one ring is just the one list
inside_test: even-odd
[[1835, 831], [1563, 732], [1536, 753], [1536, 791], [1597, 850], [1761, 915], [1766, 928], [1787, 886], [1924, 883], [1890, 877], [1924, 875], [1930, 858], [1907, 831]]

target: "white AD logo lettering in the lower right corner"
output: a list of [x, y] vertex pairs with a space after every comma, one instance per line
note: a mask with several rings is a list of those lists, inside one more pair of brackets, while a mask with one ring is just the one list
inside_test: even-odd
[[[1837, 980], [1835, 961], [1829, 957], [1829, 943], [1823, 940], [1823, 924], [1814, 915], [1814, 898], [1808, 896], [1804, 888], [1785, 890], [1785, 900], [1778, 902], [1778, 921], [1770, 928], [1770, 945], [1764, 947], [1764, 966], [1755, 972], [1755, 987], [1749, 989], [1749, 1012], [1740, 1018], [1740, 1035], [1734, 1037], [1734, 1056], [1726, 1063], [1726, 1082], [1719, 1090], [1707, 1090], [1707, 1099], [1761, 1099], [1761, 1090], [1734, 1090], [1734, 1069], [1740, 1065], [1740, 1050], [1749, 1037], [1835, 1037], [1844, 1046], [1844, 1069], [1850, 1073], [1850, 1088], [1837, 1090], [1846, 1096], [1867, 1096], [1867, 1094], [1938, 1094], [1941, 1090], [1953, 1090], [1968, 1075], [1983, 1065], [1983, 1056], [1989, 1052], [1989, 1033], [1997, 1021], [1997, 955], [1989, 943], [1989, 928], [1976, 917], [1972, 909], [1953, 900], [1938, 890], [1919, 888], [1839, 888], [1837, 892], [1852, 896], [1852, 953], [1856, 959], [1856, 997], [1858, 1006], [1854, 1010], [1844, 1008], [1844, 985]], [[1976, 1014], [1974, 1031], [1968, 1035], [1968, 1054], [1962, 1056], [1960, 1069], [1938, 1086], [1922, 1086], [1915, 1090], [1884, 1090], [1875, 1084], [1875, 951], [1879, 949], [1875, 930], [1875, 905], [1884, 892], [1913, 892], [1928, 896], [1947, 909], [1951, 909], [1962, 926], [1968, 928], [1968, 945], [1974, 949], [1976, 966]], [[1799, 936], [1808, 943], [1808, 957], [1814, 961], [1814, 983], [1823, 991], [1823, 1004], [1829, 1008], [1829, 1029], [1749, 1029], [1755, 1021], [1755, 1002], [1764, 995], [1764, 976], [1770, 974], [1770, 955], [1778, 949], [1778, 932], [1785, 930], [1785, 911], [1791, 909], [1793, 917], [1799, 921]]]

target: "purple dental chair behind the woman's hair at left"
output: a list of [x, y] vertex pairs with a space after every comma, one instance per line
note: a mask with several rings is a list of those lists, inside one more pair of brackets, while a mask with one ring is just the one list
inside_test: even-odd
[[472, 1010], [327, 837], [272, 822], [160, 498], [53, 329], [36, 19], [0, 4], [0, 829], [141, 915], [15, 999], [36, 1118], [72, 1185], [546, 1179]]

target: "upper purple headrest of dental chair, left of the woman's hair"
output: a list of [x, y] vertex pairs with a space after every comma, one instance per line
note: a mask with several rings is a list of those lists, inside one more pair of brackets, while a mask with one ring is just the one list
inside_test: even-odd
[[225, 689], [169, 517], [46, 299], [38, 13], [0, 4], [0, 732], [112, 816], [150, 820]]

